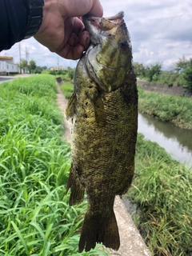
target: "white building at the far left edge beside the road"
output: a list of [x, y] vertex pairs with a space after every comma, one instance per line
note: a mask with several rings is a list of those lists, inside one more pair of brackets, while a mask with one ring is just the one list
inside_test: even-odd
[[0, 56], [0, 75], [18, 74], [19, 67], [13, 57]]

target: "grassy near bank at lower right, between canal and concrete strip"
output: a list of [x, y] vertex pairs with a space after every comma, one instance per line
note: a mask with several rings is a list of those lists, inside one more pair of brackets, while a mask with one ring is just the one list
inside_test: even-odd
[[127, 197], [138, 206], [134, 222], [153, 255], [192, 255], [191, 170], [142, 134]]

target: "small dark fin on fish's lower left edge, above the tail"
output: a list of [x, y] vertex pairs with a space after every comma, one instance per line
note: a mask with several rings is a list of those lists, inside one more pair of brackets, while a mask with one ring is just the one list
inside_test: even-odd
[[66, 185], [66, 193], [70, 189], [70, 206], [74, 206], [82, 202], [84, 198], [85, 188], [79, 182], [77, 175], [74, 174], [74, 170], [71, 168], [70, 177]]

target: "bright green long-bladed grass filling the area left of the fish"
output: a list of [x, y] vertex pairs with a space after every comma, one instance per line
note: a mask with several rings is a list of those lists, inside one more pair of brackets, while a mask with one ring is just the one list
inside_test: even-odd
[[78, 254], [86, 205], [68, 205], [70, 148], [61, 137], [54, 77], [0, 87], [0, 255], [106, 255]]

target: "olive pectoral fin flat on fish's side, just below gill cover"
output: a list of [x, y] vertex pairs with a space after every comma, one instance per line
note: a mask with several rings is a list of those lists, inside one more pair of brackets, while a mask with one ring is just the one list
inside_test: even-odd
[[93, 87], [89, 90], [87, 96], [90, 98], [90, 103], [94, 110], [95, 121], [98, 123], [98, 126], [105, 126], [106, 112], [101, 95], [98, 93], [98, 90]]

